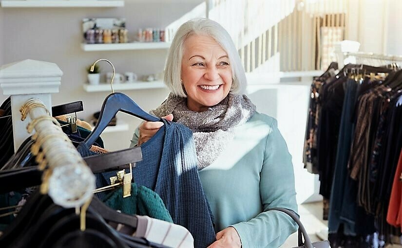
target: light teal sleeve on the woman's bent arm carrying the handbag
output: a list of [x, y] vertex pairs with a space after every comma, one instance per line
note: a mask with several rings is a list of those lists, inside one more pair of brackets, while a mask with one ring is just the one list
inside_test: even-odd
[[297, 213], [297, 204], [292, 159], [276, 120], [270, 125], [267, 137], [260, 194], [263, 212], [232, 227], [239, 233], [243, 248], [280, 247], [297, 230], [297, 224], [286, 213], [267, 209], [282, 207]]

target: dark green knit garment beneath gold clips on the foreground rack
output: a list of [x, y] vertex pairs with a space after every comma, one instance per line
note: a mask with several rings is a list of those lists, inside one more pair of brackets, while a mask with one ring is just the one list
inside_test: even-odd
[[123, 189], [120, 187], [107, 195], [105, 204], [126, 214], [147, 215], [149, 217], [173, 223], [172, 217], [162, 199], [151, 189], [131, 184], [131, 196], [123, 198]]

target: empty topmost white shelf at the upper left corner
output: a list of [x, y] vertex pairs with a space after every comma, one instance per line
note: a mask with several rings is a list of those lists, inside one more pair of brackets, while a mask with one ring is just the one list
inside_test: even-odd
[[3, 8], [123, 7], [124, 0], [0, 0]]

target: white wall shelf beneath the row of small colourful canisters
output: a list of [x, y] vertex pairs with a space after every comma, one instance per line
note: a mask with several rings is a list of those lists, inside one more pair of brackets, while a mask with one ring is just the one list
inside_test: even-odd
[[132, 42], [113, 44], [85, 44], [81, 43], [84, 51], [118, 51], [118, 50], [145, 50], [145, 49], [168, 49], [171, 43], [168, 42]]

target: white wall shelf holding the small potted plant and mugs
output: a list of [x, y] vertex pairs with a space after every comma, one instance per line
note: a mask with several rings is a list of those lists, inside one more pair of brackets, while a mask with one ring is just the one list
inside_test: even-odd
[[[100, 92], [100, 91], [111, 91], [110, 84], [100, 83], [99, 85], [89, 85], [85, 83], [83, 85], [86, 92]], [[130, 89], [159, 89], [165, 88], [163, 81], [152, 81], [152, 82], [134, 82], [134, 83], [120, 83], [113, 84], [113, 89], [116, 90], [130, 90]]]

